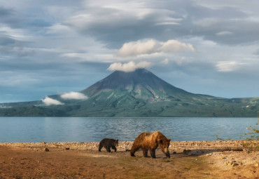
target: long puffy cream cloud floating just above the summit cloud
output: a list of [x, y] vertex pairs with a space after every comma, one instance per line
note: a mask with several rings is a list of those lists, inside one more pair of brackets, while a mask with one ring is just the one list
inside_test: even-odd
[[165, 42], [148, 39], [143, 41], [131, 41], [123, 44], [117, 55], [120, 57], [145, 55], [151, 53], [174, 53], [180, 51], [195, 51], [191, 44], [182, 43], [176, 40]]

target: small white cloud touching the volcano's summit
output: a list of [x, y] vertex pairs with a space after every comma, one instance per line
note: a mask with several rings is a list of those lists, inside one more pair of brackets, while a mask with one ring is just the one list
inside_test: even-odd
[[110, 65], [110, 67], [108, 68], [108, 70], [110, 71], [114, 71], [114, 70], [118, 70], [118, 71], [123, 71], [123, 72], [134, 72], [135, 69], [139, 69], [139, 68], [146, 68], [146, 67], [151, 67], [151, 62], [127, 62], [127, 63], [120, 63], [120, 62], [115, 62], [113, 64]]

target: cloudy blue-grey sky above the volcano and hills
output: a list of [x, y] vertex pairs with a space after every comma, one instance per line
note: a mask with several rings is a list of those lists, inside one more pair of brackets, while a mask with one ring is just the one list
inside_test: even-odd
[[0, 103], [146, 68], [190, 93], [259, 97], [259, 1], [0, 0]]

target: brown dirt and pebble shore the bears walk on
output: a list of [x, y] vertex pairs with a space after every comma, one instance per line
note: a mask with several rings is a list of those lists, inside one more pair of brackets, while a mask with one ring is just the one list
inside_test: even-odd
[[97, 152], [97, 142], [0, 143], [0, 178], [259, 178], [258, 152], [235, 142], [199, 144], [172, 142], [170, 159], [159, 149], [152, 159], [141, 151], [130, 157], [132, 142], [111, 153]]

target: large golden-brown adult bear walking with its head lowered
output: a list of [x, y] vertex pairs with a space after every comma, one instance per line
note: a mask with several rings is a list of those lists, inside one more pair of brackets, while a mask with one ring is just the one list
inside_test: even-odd
[[168, 147], [170, 145], [170, 138], [166, 138], [165, 135], [162, 135], [160, 131], [155, 131], [153, 133], [144, 132], [139, 134], [139, 136], [134, 140], [132, 149], [130, 150], [130, 155], [135, 157], [134, 153], [142, 149], [144, 157], [148, 157], [148, 150], [151, 152], [151, 157], [155, 159], [155, 150], [160, 147], [162, 152], [170, 158]]

